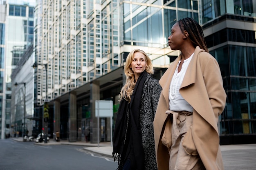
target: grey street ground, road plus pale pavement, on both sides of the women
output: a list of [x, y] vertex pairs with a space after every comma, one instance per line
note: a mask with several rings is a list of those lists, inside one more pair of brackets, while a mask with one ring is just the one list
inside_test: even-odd
[[[116, 170], [109, 143], [0, 140], [0, 170]], [[220, 146], [225, 170], [256, 170], [256, 144]], [[102, 156], [105, 155], [105, 156]]]

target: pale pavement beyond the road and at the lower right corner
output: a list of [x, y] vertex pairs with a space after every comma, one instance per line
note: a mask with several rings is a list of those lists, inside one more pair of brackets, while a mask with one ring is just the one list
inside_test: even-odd
[[[23, 141], [22, 137], [12, 138], [16, 141]], [[100, 142], [99, 144], [85, 141], [69, 142], [61, 140], [56, 142], [50, 139], [49, 143], [35, 143], [37, 145], [76, 145], [84, 146], [84, 150], [98, 153], [107, 157], [112, 157], [112, 146], [110, 142]], [[225, 170], [256, 170], [256, 144], [243, 144], [243, 145], [222, 145], [220, 146], [223, 157], [223, 164]]]

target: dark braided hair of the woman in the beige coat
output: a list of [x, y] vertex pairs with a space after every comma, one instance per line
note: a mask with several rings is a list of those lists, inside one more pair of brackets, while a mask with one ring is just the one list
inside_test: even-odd
[[183, 18], [178, 21], [182, 33], [187, 31], [189, 33], [189, 40], [194, 44], [194, 46], [199, 46], [200, 49], [209, 52], [204, 39], [204, 33], [202, 27], [192, 18]]

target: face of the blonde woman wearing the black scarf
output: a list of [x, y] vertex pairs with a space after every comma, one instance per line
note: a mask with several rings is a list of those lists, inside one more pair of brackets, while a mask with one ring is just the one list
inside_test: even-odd
[[135, 74], [135, 77], [140, 75], [147, 66], [147, 62], [145, 60], [145, 55], [140, 52], [136, 52], [133, 54], [132, 63], [130, 64], [130, 68]]

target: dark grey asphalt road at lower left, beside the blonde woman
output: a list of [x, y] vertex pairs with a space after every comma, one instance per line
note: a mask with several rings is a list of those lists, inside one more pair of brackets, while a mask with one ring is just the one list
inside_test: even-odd
[[34, 142], [0, 140], [0, 170], [116, 170], [111, 157], [83, 146], [35, 145]]

